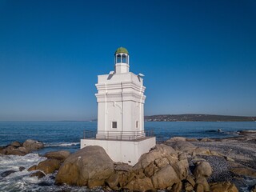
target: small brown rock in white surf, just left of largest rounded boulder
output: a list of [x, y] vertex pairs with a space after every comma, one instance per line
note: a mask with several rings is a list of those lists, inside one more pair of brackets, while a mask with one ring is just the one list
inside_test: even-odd
[[42, 170], [45, 174], [53, 174], [55, 170], [58, 170], [60, 163], [57, 159], [46, 159], [39, 162], [36, 170]]

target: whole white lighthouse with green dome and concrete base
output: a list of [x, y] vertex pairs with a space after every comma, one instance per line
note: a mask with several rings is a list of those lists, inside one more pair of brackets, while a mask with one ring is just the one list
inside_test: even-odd
[[86, 132], [81, 148], [102, 146], [114, 162], [134, 165], [155, 146], [154, 135], [144, 131], [146, 87], [142, 74], [130, 72], [126, 48], [115, 51], [114, 64], [114, 71], [98, 75], [98, 130], [95, 138]]

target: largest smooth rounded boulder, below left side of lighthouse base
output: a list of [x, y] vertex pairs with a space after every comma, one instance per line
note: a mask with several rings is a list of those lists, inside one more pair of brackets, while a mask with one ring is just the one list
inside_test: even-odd
[[86, 146], [70, 154], [58, 170], [55, 182], [75, 186], [102, 186], [114, 174], [114, 163], [101, 146]]

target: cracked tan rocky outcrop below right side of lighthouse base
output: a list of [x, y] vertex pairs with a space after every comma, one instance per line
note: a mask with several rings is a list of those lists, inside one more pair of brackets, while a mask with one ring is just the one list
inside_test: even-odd
[[182, 188], [181, 180], [188, 174], [188, 167], [186, 154], [161, 144], [149, 153], [142, 154], [132, 170], [116, 170], [106, 183], [113, 190], [179, 191]]

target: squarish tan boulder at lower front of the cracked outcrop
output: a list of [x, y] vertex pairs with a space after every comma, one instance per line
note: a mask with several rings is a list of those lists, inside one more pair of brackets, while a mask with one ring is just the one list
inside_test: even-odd
[[174, 183], [180, 182], [174, 168], [170, 165], [158, 170], [158, 172], [152, 176], [151, 180], [154, 188], [158, 190], [164, 190], [169, 186], [173, 186]]

